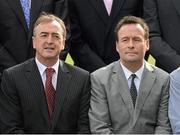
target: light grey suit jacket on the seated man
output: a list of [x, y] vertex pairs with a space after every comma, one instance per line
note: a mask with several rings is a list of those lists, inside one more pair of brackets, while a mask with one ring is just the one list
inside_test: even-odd
[[135, 109], [119, 61], [92, 73], [91, 83], [92, 133], [171, 133], [166, 72], [145, 64]]

